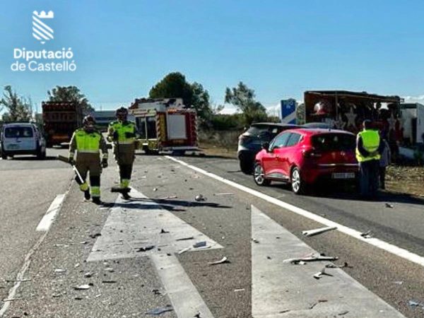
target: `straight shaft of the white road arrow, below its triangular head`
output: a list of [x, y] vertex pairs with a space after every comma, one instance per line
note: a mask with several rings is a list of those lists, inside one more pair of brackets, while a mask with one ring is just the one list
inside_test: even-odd
[[177, 317], [213, 318], [201, 295], [175, 255], [154, 254], [151, 256], [156, 271], [172, 302]]

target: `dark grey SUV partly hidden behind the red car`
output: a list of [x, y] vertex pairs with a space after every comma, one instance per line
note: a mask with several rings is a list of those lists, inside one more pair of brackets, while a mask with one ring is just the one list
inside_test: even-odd
[[239, 136], [237, 158], [240, 170], [247, 174], [252, 173], [254, 157], [261, 150], [262, 143], [269, 143], [275, 136], [285, 129], [299, 128], [294, 124], [273, 122], [258, 122], [252, 124], [247, 131]]

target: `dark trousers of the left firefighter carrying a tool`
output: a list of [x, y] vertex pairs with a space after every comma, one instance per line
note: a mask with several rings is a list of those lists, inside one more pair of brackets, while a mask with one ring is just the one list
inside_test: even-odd
[[[83, 183], [76, 176], [76, 182], [80, 185], [81, 191], [90, 189], [93, 198], [100, 198], [100, 153], [76, 153], [76, 169], [83, 178]], [[87, 183], [87, 175], [90, 176], [90, 185]]]

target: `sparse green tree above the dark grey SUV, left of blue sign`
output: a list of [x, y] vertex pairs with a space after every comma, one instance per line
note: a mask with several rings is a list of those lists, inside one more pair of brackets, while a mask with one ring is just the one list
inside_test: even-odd
[[237, 87], [225, 90], [225, 102], [237, 107], [243, 114], [246, 125], [252, 122], [262, 122], [268, 118], [266, 108], [255, 100], [254, 90], [240, 82]]

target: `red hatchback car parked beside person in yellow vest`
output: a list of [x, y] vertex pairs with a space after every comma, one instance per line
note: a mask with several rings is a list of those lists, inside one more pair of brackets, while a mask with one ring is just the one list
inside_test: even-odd
[[295, 194], [320, 180], [355, 181], [355, 135], [333, 129], [289, 129], [264, 143], [256, 155], [254, 182], [259, 186], [271, 181], [291, 183]]

